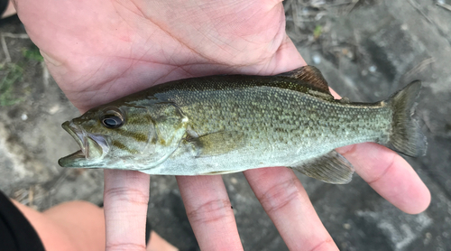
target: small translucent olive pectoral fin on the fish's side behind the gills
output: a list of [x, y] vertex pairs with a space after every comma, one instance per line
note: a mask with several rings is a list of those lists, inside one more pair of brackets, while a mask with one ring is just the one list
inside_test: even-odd
[[244, 146], [244, 134], [236, 131], [222, 131], [187, 140], [198, 150], [198, 157], [229, 153]]

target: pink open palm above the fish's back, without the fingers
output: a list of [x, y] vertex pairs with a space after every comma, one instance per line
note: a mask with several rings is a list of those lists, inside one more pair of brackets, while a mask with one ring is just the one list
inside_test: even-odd
[[281, 5], [260, 2], [23, 0], [18, 11], [60, 88], [86, 110], [171, 79], [299, 66], [299, 56], [275, 58], [289, 42]]

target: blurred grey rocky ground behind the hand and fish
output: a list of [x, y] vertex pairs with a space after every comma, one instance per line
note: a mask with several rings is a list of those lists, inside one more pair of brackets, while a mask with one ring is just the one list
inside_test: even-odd
[[[330, 185], [299, 174], [340, 250], [451, 250], [451, 1], [286, 0], [287, 32], [308, 64], [352, 101], [378, 101], [423, 81], [417, 110], [428, 153], [409, 163], [432, 193], [408, 215], [360, 177]], [[34, 209], [103, 200], [101, 170], [63, 169], [78, 145], [60, 127], [78, 116], [14, 16], [0, 21], [0, 190]], [[245, 250], [287, 250], [242, 173], [223, 175]], [[149, 219], [181, 250], [197, 250], [172, 176], [152, 176]]]

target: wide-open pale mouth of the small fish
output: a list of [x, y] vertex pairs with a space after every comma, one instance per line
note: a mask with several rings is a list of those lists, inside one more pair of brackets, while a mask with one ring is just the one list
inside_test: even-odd
[[73, 121], [66, 121], [62, 128], [77, 142], [80, 150], [60, 158], [58, 163], [62, 167], [97, 167], [108, 153], [109, 146], [103, 135], [89, 134], [78, 127]]

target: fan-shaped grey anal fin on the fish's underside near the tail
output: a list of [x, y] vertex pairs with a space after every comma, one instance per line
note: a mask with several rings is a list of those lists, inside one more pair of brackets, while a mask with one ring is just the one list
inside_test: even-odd
[[353, 179], [354, 173], [353, 165], [335, 150], [290, 168], [302, 172], [308, 177], [332, 184], [349, 183]]

